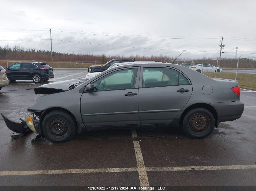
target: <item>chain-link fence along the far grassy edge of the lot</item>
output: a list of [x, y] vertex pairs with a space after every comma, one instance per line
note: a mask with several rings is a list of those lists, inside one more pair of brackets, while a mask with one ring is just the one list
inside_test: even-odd
[[[46, 62], [53, 68], [87, 69], [91, 65], [104, 65], [98, 61], [47, 61], [47, 60], [1, 60], [0, 65], [7, 67], [17, 62]], [[211, 78], [228, 78], [238, 80], [244, 76], [255, 78], [256, 58], [242, 59], [202, 59], [202, 60], [162, 60], [163, 63], [174, 63], [201, 72]]]

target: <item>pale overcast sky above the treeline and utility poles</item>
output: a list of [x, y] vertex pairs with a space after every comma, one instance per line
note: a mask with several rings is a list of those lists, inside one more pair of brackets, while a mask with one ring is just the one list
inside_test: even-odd
[[52, 28], [52, 49], [62, 53], [178, 56], [186, 48], [182, 57], [217, 57], [223, 36], [223, 58], [236, 46], [238, 56], [256, 57], [255, 7], [255, 0], [1, 0], [0, 46], [50, 50], [50, 40], [39, 39], [50, 39]]

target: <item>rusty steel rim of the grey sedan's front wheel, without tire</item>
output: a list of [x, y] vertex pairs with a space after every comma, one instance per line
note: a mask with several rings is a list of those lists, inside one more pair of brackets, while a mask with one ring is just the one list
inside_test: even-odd
[[69, 125], [62, 117], [55, 117], [48, 123], [46, 130], [53, 138], [63, 138], [68, 134]]

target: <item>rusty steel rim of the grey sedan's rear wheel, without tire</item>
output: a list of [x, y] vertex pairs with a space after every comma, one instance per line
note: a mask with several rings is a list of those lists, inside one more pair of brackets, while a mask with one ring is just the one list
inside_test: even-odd
[[188, 127], [194, 134], [204, 134], [211, 125], [210, 119], [204, 113], [196, 113], [190, 117]]

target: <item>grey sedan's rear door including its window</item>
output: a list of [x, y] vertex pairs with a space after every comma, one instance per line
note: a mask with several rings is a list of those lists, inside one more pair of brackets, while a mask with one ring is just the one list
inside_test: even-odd
[[141, 124], [170, 123], [191, 94], [190, 81], [174, 68], [143, 67], [138, 97]]

